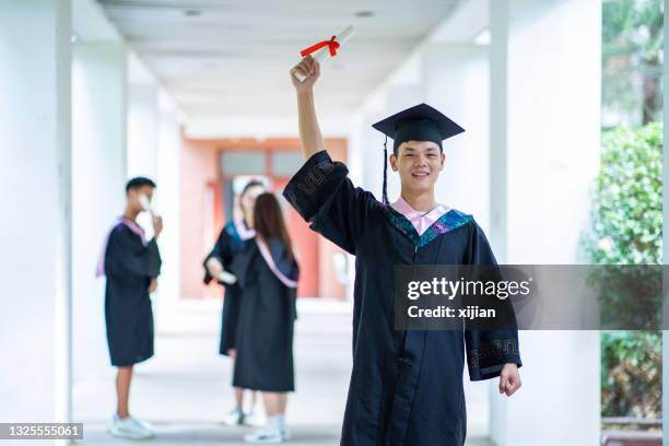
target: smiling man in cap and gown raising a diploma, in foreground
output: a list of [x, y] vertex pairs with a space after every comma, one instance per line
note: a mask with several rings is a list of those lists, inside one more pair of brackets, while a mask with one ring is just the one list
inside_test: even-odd
[[384, 173], [379, 202], [326, 151], [314, 105], [319, 74], [310, 57], [291, 70], [307, 161], [283, 195], [314, 231], [356, 257], [341, 444], [463, 445], [465, 357], [472, 380], [498, 376], [500, 392], [510, 396], [520, 387], [517, 331], [395, 330], [392, 319], [395, 265], [496, 265], [473, 218], [435, 201], [442, 141], [463, 130], [424, 104], [375, 125], [394, 139], [389, 161], [401, 180], [401, 197], [390, 204]]

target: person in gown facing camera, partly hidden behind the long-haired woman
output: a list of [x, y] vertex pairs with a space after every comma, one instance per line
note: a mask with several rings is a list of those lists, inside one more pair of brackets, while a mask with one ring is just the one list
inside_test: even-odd
[[[204, 283], [216, 280], [225, 286], [223, 296], [223, 312], [221, 318], [221, 344], [219, 352], [230, 356], [233, 364], [236, 356], [235, 333], [239, 317], [239, 306], [242, 304], [242, 287], [237, 282], [228, 283], [221, 278], [223, 271], [230, 272], [230, 266], [242, 247], [244, 240], [255, 235], [250, 223], [253, 222], [254, 204], [256, 197], [265, 191], [265, 185], [259, 180], [250, 180], [244, 186], [239, 193], [238, 208], [235, 209], [233, 219], [225, 224], [216, 243], [204, 259]], [[251, 397], [251, 406], [248, 411], [244, 411], [244, 389], [235, 387], [236, 407], [225, 416], [223, 422], [227, 425], [257, 424], [257, 416], [254, 411], [256, 395]]]

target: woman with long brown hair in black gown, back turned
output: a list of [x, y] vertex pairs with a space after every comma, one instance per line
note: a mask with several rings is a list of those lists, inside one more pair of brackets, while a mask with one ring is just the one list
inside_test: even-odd
[[244, 292], [233, 383], [262, 391], [268, 416], [267, 426], [245, 441], [281, 443], [290, 438], [284, 421], [286, 392], [295, 389], [293, 322], [300, 271], [272, 193], [256, 199], [254, 228], [256, 236], [244, 243], [232, 265]]

